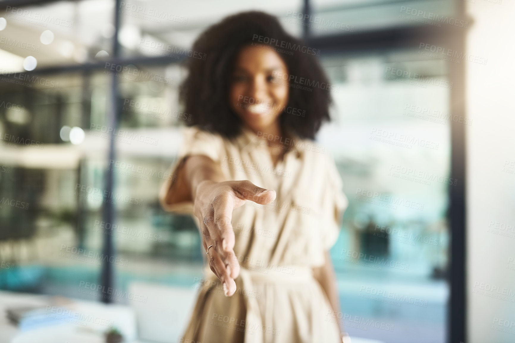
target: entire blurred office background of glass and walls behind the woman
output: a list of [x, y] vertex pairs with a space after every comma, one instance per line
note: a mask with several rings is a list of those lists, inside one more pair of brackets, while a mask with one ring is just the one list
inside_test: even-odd
[[[345, 330], [355, 341], [451, 343], [464, 337], [451, 329], [465, 325], [467, 343], [513, 341], [513, 3], [0, 4], [0, 307], [10, 317], [41, 304], [106, 313], [91, 305], [106, 302], [90, 287], [109, 279], [102, 272], [121, 295], [114, 325], [83, 325], [87, 338], [66, 318], [21, 312], [18, 327], [0, 321], [2, 342], [43, 337], [54, 325], [75, 341], [97, 341], [92, 332], [111, 326], [130, 339], [177, 341], [203, 263], [193, 220], [157, 199], [187, 120], [178, 103], [183, 52], [203, 29], [251, 9], [320, 49], [337, 86], [334, 121], [318, 141], [349, 198], [331, 250]], [[113, 127], [123, 137], [111, 140]], [[107, 269], [106, 230], [117, 258]], [[452, 321], [456, 313], [467, 320]]]

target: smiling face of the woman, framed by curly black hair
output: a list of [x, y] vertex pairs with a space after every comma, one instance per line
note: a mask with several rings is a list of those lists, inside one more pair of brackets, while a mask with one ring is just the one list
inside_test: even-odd
[[253, 131], [263, 131], [278, 120], [288, 104], [286, 64], [272, 50], [246, 46], [236, 58], [229, 101]]

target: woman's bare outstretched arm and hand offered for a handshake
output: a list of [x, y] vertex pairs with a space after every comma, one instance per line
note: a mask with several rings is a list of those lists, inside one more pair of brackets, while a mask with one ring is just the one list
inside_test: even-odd
[[276, 198], [276, 193], [248, 180], [226, 181], [220, 166], [203, 155], [183, 158], [176, 173], [175, 181], [163, 185], [159, 196], [161, 204], [169, 209], [175, 203], [193, 202], [209, 267], [222, 282], [226, 296], [231, 296], [236, 291], [234, 279], [239, 274], [232, 211], [243, 206], [246, 200], [268, 204]]

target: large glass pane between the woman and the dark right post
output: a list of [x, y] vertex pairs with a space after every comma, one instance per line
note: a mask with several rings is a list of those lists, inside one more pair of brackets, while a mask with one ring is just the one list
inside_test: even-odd
[[335, 55], [323, 65], [335, 121], [319, 139], [349, 199], [331, 250], [341, 321], [355, 336], [443, 342], [448, 189], [460, 181], [450, 178], [446, 65], [409, 49]]

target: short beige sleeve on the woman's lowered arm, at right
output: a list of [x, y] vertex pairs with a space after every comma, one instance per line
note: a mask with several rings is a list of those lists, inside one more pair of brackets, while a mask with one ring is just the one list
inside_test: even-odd
[[343, 182], [332, 156], [328, 156], [326, 162], [322, 208], [327, 222], [322, 232], [322, 245], [324, 250], [329, 250], [338, 239], [341, 217], [348, 207], [349, 200], [342, 190]]

